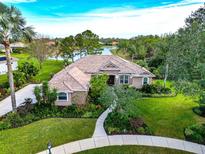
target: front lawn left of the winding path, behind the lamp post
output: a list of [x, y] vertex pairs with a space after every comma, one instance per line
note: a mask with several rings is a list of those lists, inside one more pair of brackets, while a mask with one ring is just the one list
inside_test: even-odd
[[53, 146], [91, 137], [95, 119], [45, 119], [24, 127], [0, 131], [0, 153], [31, 154]]

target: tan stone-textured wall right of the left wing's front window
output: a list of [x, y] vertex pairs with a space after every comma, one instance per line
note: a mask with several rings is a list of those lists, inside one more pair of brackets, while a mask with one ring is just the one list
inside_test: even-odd
[[88, 92], [86, 91], [76, 91], [72, 93], [71, 102], [77, 105], [84, 105], [86, 104], [87, 96], [88, 96]]

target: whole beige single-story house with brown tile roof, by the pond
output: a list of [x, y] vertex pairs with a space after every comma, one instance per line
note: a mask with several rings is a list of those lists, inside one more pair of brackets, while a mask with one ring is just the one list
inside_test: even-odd
[[58, 91], [56, 105], [85, 104], [92, 75], [106, 73], [109, 85], [129, 84], [138, 89], [155, 77], [147, 69], [113, 55], [83, 57], [54, 75], [49, 81]]

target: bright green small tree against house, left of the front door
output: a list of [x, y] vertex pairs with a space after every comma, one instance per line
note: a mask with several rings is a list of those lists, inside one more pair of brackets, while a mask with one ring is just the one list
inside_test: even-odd
[[107, 88], [107, 80], [107, 74], [100, 74], [92, 77], [90, 81], [91, 87], [89, 91], [91, 102], [99, 103], [98, 98], [100, 97], [101, 93]]

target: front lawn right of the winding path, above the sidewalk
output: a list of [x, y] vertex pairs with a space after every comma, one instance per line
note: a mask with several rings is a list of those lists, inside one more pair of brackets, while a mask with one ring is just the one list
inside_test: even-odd
[[184, 129], [205, 118], [193, 113], [197, 103], [183, 95], [166, 98], [144, 98], [136, 102], [136, 112], [154, 131], [154, 135], [184, 139]]

